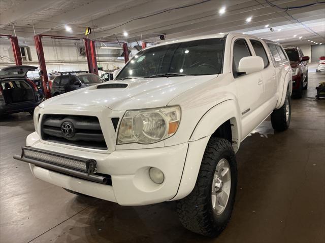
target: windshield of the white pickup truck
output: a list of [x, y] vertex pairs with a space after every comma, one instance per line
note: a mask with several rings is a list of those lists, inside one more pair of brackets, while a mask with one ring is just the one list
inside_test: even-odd
[[224, 38], [212, 38], [149, 48], [135, 55], [116, 79], [218, 74], [224, 43]]

